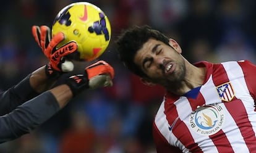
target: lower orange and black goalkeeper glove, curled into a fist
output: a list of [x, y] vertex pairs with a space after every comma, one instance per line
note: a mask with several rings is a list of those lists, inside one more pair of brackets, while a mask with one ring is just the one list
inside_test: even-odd
[[73, 96], [84, 89], [96, 89], [105, 86], [112, 86], [114, 68], [104, 60], [100, 60], [85, 68], [83, 75], [74, 75], [66, 80]]

